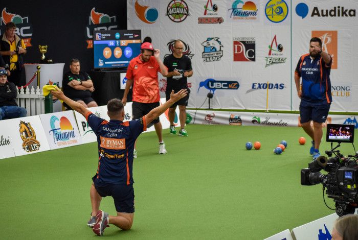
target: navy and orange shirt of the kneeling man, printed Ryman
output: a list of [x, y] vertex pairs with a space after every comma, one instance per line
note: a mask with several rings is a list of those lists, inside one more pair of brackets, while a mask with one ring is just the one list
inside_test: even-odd
[[88, 112], [86, 120], [97, 135], [99, 160], [94, 181], [132, 184], [134, 144], [137, 137], [147, 129], [145, 117], [128, 122], [107, 122]]

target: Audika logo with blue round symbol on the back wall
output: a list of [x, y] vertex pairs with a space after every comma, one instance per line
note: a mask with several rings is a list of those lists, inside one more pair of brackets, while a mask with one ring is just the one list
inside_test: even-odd
[[[307, 4], [297, 4], [296, 14], [298, 16], [305, 18], [308, 12]], [[311, 17], [355, 17], [355, 9], [344, 8], [344, 6], [335, 6], [331, 9], [319, 9], [318, 7], [314, 7], [311, 12]]]

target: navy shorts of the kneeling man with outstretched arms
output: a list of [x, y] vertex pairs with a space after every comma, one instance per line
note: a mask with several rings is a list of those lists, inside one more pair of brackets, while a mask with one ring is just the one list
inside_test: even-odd
[[103, 198], [111, 196], [113, 198], [117, 212], [132, 213], [135, 211], [133, 184], [119, 185], [94, 181], [94, 185], [99, 196]]

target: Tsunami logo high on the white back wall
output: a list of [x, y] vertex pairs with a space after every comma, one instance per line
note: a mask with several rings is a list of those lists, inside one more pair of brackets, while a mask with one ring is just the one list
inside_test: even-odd
[[257, 7], [254, 2], [236, 0], [228, 9], [232, 20], [257, 20]]

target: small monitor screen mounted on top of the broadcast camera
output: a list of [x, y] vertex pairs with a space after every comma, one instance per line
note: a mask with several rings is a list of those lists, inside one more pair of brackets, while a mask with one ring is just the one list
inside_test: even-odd
[[326, 141], [353, 142], [354, 125], [327, 124]]

